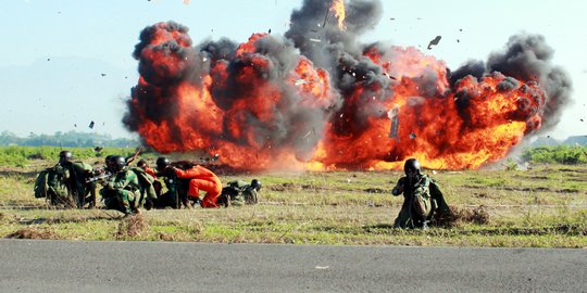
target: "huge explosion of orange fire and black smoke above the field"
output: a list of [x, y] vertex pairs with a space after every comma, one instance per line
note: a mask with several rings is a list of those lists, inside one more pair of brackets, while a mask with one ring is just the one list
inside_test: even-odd
[[162, 153], [330, 170], [398, 168], [408, 157], [478, 168], [559, 122], [571, 82], [541, 36], [513, 36], [486, 63], [451, 72], [415, 48], [361, 44], [380, 15], [379, 1], [305, 0], [284, 36], [198, 46], [183, 25], [149, 26], [123, 123]]

